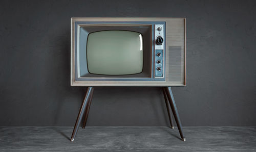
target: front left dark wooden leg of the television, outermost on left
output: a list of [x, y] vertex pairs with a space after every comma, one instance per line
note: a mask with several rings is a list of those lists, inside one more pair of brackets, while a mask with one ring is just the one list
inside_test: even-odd
[[84, 111], [86, 109], [86, 105], [89, 101], [89, 98], [91, 96], [91, 93], [92, 93], [92, 89], [93, 87], [88, 87], [87, 88], [87, 91], [86, 91], [86, 95], [84, 96], [83, 98], [83, 102], [82, 102], [82, 105], [80, 107], [80, 110], [79, 110], [79, 113], [78, 113], [78, 116], [77, 116], [77, 119], [76, 119], [76, 123], [75, 123], [75, 126], [74, 126], [74, 130], [73, 130], [73, 133], [72, 133], [72, 136], [71, 136], [71, 141], [74, 141], [75, 137], [76, 137], [76, 134], [77, 134], [77, 131], [78, 131], [78, 128], [80, 126], [80, 123], [81, 123], [81, 120], [82, 120], [82, 116], [84, 114]]

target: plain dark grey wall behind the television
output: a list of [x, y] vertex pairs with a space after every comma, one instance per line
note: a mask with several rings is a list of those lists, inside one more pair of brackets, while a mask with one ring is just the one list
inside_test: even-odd
[[[1, 1], [0, 125], [74, 124], [86, 88], [70, 86], [70, 17], [186, 17], [187, 86], [173, 87], [183, 125], [256, 125], [255, 8], [254, 1]], [[167, 124], [160, 88], [95, 88], [88, 125]]]

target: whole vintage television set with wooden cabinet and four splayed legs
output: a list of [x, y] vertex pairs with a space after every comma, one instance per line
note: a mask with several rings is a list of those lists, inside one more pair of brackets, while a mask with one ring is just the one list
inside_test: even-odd
[[72, 141], [95, 86], [163, 87], [185, 140], [170, 87], [186, 86], [186, 19], [71, 18], [71, 86], [88, 87]]

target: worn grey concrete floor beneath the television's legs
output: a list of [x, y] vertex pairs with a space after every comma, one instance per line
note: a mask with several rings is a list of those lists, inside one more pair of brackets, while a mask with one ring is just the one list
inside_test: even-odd
[[256, 126], [0, 127], [0, 151], [256, 151]]

